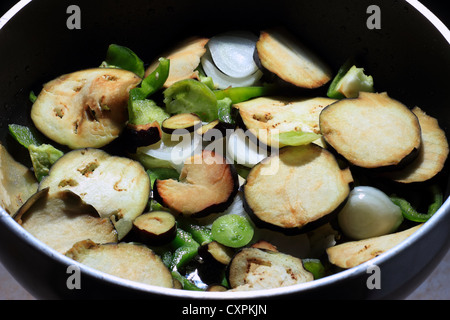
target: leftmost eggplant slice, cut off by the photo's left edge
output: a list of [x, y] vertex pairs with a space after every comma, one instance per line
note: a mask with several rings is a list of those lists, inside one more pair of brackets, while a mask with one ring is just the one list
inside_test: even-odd
[[0, 206], [13, 215], [37, 189], [33, 172], [14, 160], [0, 144]]

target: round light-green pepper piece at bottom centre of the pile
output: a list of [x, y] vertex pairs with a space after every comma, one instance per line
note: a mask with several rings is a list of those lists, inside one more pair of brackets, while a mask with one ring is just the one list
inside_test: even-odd
[[217, 218], [212, 224], [211, 232], [214, 240], [231, 248], [247, 245], [254, 234], [250, 222], [237, 214], [227, 214]]

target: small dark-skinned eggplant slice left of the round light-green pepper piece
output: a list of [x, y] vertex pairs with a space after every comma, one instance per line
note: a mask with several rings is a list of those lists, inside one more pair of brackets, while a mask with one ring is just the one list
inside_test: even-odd
[[133, 229], [142, 242], [162, 245], [173, 240], [177, 234], [175, 217], [166, 211], [144, 213], [134, 219]]

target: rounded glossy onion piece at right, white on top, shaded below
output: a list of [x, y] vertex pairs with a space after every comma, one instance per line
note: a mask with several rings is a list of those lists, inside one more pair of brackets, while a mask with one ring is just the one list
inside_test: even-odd
[[403, 222], [403, 216], [384, 192], [359, 186], [350, 192], [338, 214], [338, 221], [345, 235], [361, 240], [396, 231]]

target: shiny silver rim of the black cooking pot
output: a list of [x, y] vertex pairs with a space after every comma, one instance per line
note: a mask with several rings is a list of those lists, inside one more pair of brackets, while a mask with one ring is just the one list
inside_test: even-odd
[[[0, 30], [4, 25], [8, 23], [9, 20], [11, 20], [21, 9], [23, 9], [31, 1], [32, 0], [20, 0], [2, 17], [0, 17]], [[404, 0], [404, 1], [408, 2], [425, 18], [427, 18], [450, 44], [450, 30], [436, 15], [434, 15], [434, 13], [432, 13], [427, 7], [425, 7], [418, 0]], [[79, 262], [76, 262], [66, 257], [65, 255], [50, 248], [40, 240], [36, 239], [29, 232], [23, 229], [18, 223], [16, 223], [11, 218], [11, 216], [3, 208], [0, 207], [0, 222], [2, 222], [3, 220], [5, 222], [5, 225], [7, 225], [15, 235], [23, 239], [23, 241], [25, 241], [27, 245], [39, 250], [42, 254], [48, 256], [51, 259], [54, 259], [56, 262], [62, 265], [65, 265], [67, 267], [76, 265], [83, 274], [89, 275], [90, 277], [106, 281], [116, 286], [127, 287], [129, 289], [133, 289], [143, 293], [160, 294], [161, 296], [166, 296], [167, 298], [195, 298], [203, 300], [271, 298], [278, 295], [290, 295], [298, 292], [317, 290], [325, 288], [327, 285], [331, 283], [345, 281], [349, 278], [361, 277], [362, 275], [367, 274], [367, 270], [369, 270], [371, 266], [382, 265], [395, 255], [399, 254], [401, 251], [407, 249], [410, 246], [415, 245], [416, 243], [419, 243], [423, 238], [427, 236], [427, 234], [433, 232], [433, 228], [438, 223], [440, 223], [441, 220], [444, 220], [446, 216], [450, 216], [450, 197], [447, 198], [447, 200], [444, 202], [441, 208], [433, 215], [433, 217], [430, 220], [428, 220], [421, 228], [419, 228], [413, 235], [411, 235], [408, 239], [404, 240], [402, 243], [398, 244], [389, 251], [379, 255], [378, 257], [373, 258], [359, 266], [343, 270], [339, 273], [327, 276], [322, 279], [302, 284], [296, 284], [288, 287], [264, 289], [256, 291], [197, 292], [197, 291], [177, 290], [172, 288], [162, 288], [143, 283], [138, 283], [135, 281], [109, 275], [101, 271], [95, 270], [91, 267], [80, 264]]]

